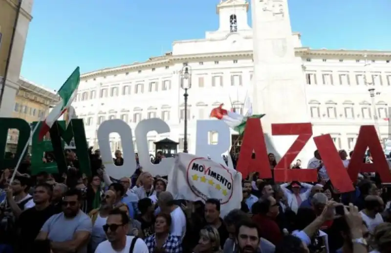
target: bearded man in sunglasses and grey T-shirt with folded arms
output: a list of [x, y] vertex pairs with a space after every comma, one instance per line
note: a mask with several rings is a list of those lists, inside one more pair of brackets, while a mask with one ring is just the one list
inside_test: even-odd
[[62, 201], [63, 212], [51, 216], [43, 224], [36, 240], [50, 240], [53, 253], [87, 253], [92, 222], [80, 209], [81, 200], [80, 190], [68, 190]]

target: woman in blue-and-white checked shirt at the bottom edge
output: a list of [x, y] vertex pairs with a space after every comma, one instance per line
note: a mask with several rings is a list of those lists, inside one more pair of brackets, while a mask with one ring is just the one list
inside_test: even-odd
[[171, 215], [159, 213], [155, 220], [155, 233], [145, 238], [150, 253], [182, 253], [178, 236], [170, 234]]

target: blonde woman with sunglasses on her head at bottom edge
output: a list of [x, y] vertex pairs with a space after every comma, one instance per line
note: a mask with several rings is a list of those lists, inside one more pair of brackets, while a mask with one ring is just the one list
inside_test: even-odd
[[206, 226], [199, 231], [198, 245], [195, 246], [193, 253], [222, 253], [220, 247], [220, 235], [217, 229], [212, 226]]

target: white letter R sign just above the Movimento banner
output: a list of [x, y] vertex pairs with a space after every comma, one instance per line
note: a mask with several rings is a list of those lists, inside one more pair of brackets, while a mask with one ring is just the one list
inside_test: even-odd
[[[211, 132], [217, 133], [217, 145], [208, 143], [208, 136]], [[197, 120], [197, 135], [195, 144], [195, 154], [198, 157], [209, 157], [211, 160], [225, 164], [222, 154], [229, 151], [231, 146], [230, 129], [221, 120]], [[228, 156], [228, 167], [233, 169], [231, 156]]]

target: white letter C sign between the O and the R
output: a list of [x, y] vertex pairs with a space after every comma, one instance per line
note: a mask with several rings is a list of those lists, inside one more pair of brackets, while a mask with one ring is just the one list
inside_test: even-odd
[[151, 131], [156, 131], [157, 134], [170, 133], [170, 127], [160, 118], [141, 120], [134, 131], [137, 150], [139, 151], [138, 159], [140, 164], [142, 164], [144, 171], [148, 171], [152, 176], [168, 175], [174, 167], [174, 158], [162, 159], [159, 164], [152, 164], [147, 141], [147, 134]]

